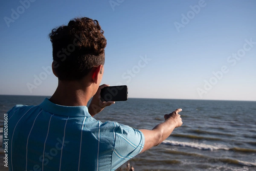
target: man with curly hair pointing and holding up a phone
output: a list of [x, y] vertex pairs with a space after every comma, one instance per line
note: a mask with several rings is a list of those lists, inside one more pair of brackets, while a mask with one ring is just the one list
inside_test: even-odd
[[[99, 86], [107, 44], [103, 33], [97, 20], [86, 17], [52, 30], [58, 87], [40, 105], [9, 110], [9, 171], [114, 171], [182, 125], [181, 109], [165, 115], [153, 130], [93, 118], [114, 103], [100, 100], [108, 86]], [[145, 122], [150, 122], [146, 116]]]

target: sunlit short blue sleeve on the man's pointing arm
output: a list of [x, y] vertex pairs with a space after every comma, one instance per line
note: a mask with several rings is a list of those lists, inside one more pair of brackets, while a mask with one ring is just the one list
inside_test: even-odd
[[118, 123], [115, 125], [111, 171], [139, 154], [145, 143], [145, 137], [140, 130]]

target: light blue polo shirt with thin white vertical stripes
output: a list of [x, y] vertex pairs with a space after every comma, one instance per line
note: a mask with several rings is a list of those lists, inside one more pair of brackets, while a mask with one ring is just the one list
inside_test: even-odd
[[9, 171], [114, 171], [139, 154], [143, 133], [100, 122], [86, 106], [16, 105], [8, 112]]

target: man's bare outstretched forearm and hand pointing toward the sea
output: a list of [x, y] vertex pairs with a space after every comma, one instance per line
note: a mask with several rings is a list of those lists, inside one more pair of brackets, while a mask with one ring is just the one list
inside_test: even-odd
[[165, 115], [165, 122], [155, 126], [152, 130], [140, 130], [145, 136], [144, 148], [140, 153], [159, 145], [163, 140], [170, 136], [175, 128], [180, 127], [183, 124], [179, 114], [181, 110], [182, 109], [177, 109], [169, 115]]

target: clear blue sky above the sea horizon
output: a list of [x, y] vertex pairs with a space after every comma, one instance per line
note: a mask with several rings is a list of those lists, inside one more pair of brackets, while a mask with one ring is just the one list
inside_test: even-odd
[[136, 98], [256, 101], [255, 0], [31, 1], [0, 3], [0, 94], [52, 95], [48, 34], [90, 17], [108, 42], [102, 84]]

